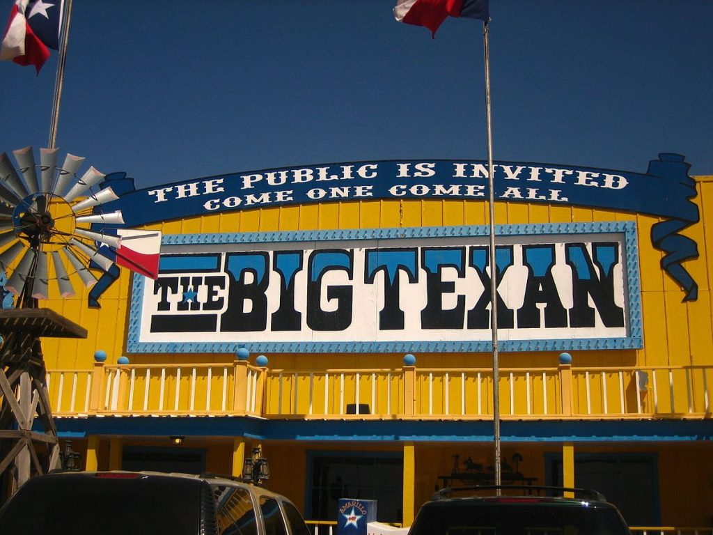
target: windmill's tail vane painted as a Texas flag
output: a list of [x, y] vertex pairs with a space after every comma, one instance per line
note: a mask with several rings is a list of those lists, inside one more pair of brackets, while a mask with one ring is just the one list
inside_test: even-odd
[[158, 278], [158, 259], [161, 250], [161, 233], [158, 230], [104, 229], [106, 235], [119, 238], [118, 247], [99, 248], [99, 252], [116, 265], [149, 277]]

